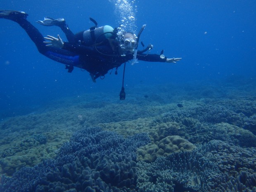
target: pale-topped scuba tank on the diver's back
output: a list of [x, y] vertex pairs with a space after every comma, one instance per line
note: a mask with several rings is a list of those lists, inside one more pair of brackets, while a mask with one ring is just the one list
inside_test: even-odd
[[111, 38], [113, 36], [114, 28], [112, 28], [109, 25], [104, 25], [101, 27], [91, 27], [90, 29], [83, 31], [83, 45], [90, 46], [95, 43], [95, 40], [97, 39], [97, 42], [102, 42], [108, 38]]

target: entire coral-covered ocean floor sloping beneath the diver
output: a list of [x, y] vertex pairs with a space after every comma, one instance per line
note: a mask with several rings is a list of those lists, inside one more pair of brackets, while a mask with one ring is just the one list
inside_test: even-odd
[[0, 123], [3, 192], [256, 192], [252, 79], [60, 98]]

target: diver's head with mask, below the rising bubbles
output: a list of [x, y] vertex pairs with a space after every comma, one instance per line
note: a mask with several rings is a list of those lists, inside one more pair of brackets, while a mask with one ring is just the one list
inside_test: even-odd
[[137, 36], [130, 32], [123, 33], [120, 48], [123, 52], [134, 52], [137, 47]]

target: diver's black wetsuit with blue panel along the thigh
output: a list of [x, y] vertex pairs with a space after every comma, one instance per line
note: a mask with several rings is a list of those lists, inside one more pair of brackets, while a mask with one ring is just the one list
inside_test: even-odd
[[[96, 79], [99, 76], [104, 76], [110, 69], [119, 67], [121, 64], [133, 59], [132, 53], [127, 53], [125, 56], [118, 54], [118, 43], [110, 45], [109, 40], [102, 45], [83, 46], [78, 43], [64, 42], [62, 49], [55, 47], [47, 47], [43, 43], [42, 34], [25, 18], [14, 20], [28, 34], [31, 40], [36, 44], [38, 51], [55, 60], [59, 63], [66, 64], [69, 72], [73, 70], [73, 66], [85, 69]], [[68, 38], [69, 39], [69, 38]], [[138, 60], [147, 62], [165, 62], [166, 58], [161, 59], [160, 55], [156, 54], [139, 54]]]

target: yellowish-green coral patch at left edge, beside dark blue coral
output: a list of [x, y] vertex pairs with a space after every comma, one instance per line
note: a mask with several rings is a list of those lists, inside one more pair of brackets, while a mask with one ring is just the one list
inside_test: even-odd
[[[15, 137], [11, 140], [13, 135]], [[43, 159], [54, 158], [56, 150], [69, 139], [70, 135], [70, 130], [54, 128], [44, 133], [39, 133], [35, 129], [22, 133], [21, 131], [9, 133], [0, 142], [0, 173], [12, 175], [21, 167], [35, 166]]]

